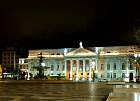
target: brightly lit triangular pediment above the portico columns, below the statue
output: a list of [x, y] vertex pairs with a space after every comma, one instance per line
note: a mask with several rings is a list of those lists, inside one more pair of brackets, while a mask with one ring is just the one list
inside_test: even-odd
[[94, 56], [95, 52], [87, 50], [85, 48], [78, 48], [66, 54], [66, 56]]

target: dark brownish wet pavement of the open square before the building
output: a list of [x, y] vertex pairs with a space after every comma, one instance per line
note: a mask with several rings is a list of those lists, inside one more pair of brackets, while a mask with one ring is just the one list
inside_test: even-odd
[[112, 86], [105, 83], [0, 84], [0, 101], [106, 101]]

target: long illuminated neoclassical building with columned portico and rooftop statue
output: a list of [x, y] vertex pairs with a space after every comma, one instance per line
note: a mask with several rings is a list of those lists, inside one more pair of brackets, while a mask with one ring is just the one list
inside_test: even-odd
[[130, 57], [139, 54], [137, 46], [83, 47], [29, 50], [28, 71], [37, 75], [40, 53], [46, 76], [66, 76], [68, 80], [117, 80], [135, 78], [136, 65]]

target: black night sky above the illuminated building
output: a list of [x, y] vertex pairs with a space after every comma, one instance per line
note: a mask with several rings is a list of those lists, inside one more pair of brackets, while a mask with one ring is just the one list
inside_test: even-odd
[[139, 21], [132, 0], [21, 1], [0, 3], [1, 46], [79, 47], [80, 40], [89, 47], [126, 45]]

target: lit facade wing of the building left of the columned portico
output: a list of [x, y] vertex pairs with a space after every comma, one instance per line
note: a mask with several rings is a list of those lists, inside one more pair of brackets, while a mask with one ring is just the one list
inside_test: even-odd
[[37, 75], [39, 67], [39, 54], [42, 53], [42, 68], [45, 76], [65, 75], [63, 49], [29, 50], [28, 67], [30, 73]]

